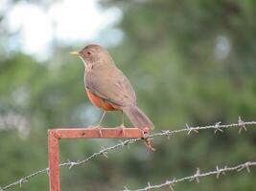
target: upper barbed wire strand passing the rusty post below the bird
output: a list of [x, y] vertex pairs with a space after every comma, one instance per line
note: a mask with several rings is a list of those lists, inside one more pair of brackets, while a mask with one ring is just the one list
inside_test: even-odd
[[[235, 127], [238, 128], [238, 132], [239, 132], [239, 134], [241, 134], [243, 130], [244, 131], [247, 130], [246, 127], [248, 127], [248, 126], [253, 127], [251, 125], [256, 125], [256, 121], [243, 121], [242, 118], [239, 117], [239, 120], [238, 120], [237, 123], [221, 124], [221, 121], [220, 121], [220, 122], [217, 122], [214, 125], [197, 126], [197, 127], [190, 127], [188, 124], [186, 124], [185, 128], [177, 129], [177, 130], [162, 130], [160, 133], [155, 133], [155, 134], [148, 135], [147, 138], [155, 138], [155, 137], [160, 137], [160, 136], [166, 136], [167, 138], [170, 138], [171, 136], [173, 136], [175, 134], [178, 134], [178, 133], [182, 133], [182, 132], [187, 132], [188, 135], [190, 135], [192, 132], [198, 133], [198, 131], [200, 131], [200, 130], [207, 130], [207, 129], [214, 129], [214, 133], [216, 134], [218, 132], [222, 133], [223, 129], [235, 128]], [[103, 148], [99, 152], [92, 154], [91, 156], [89, 156], [86, 159], [77, 160], [77, 161], [70, 161], [68, 159], [67, 162], [59, 164], [59, 167], [69, 167], [69, 169], [71, 169], [74, 166], [81, 165], [83, 163], [88, 162], [91, 159], [95, 159], [95, 158], [100, 157], [100, 156], [105, 156], [107, 158], [107, 153], [109, 151], [112, 151], [112, 150], [115, 150], [115, 149], [118, 149], [118, 148], [123, 148], [125, 146], [128, 146], [128, 148], [129, 148], [130, 144], [134, 144], [134, 143], [136, 143], [140, 140], [141, 140], [141, 138], [131, 138], [131, 139], [128, 139], [128, 140], [125, 140], [125, 141], [120, 141], [120, 143], [115, 144], [115, 145], [110, 146], [110, 147]], [[23, 178], [21, 178], [19, 180], [16, 180], [16, 181], [14, 181], [14, 182], [12, 182], [8, 185], [0, 187], [0, 191], [9, 190], [15, 185], [20, 185], [21, 186], [23, 183], [28, 182], [29, 180], [31, 180], [35, 176], [38, 176], [38, 175], [44, 174], [44, 173], [48, 174], [48, 172], [49, 172], [49, 168], [39, 170], [39, 171], [29, 175], [29, 176], [23, 177]]]

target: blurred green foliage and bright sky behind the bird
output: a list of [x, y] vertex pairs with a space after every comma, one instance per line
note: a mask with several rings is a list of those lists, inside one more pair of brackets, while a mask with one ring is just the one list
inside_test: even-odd
[[[0, 185], [47, 164], [47, 129], [95, 124], [102, 111], [88, 102], [83, 65], [70, 56], [89, 43], [105, 46], [133, 85], [154, 132], [253, 120], [256, 117], [254, 0], [1, 0]], [[108, 114], [116, 126], [120, 114]], [[128, 120], [126, 121], [127, 124]], [[84, 159], [119, 140], [62, 141], [61, 161]], [[71, 170], [61, 190], [122, 190], [164, 182], [256, 158], [256, 133], [212, 131], [154, 138]], [[175, 190], [248, 190], [256, 171], [221, 180], [183, 182]], [[48, 190], [41, 175], [12, 190]], [[162, 189], [162, 190], [166, 190]]]

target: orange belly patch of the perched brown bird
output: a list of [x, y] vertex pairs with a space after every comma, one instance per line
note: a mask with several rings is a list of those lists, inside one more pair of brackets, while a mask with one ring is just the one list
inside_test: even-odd
[[114, 110], [121, 110], [117, 105], [110, 104], [105, 101], [105, 99], [101, 98], [100, 96], [96, 96], [92, 94], [90, 91], [86, 89], [87, 96], [89, 97], [90, 101], [97, 107], [102, 108], [105, 111], [114, 111]]

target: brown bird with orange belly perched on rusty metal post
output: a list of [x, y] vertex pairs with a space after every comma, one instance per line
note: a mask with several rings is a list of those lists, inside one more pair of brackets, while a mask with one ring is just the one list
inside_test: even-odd
[[120, 127], [123, 134], [126, 128], [124, 113], [130, 122], [142, 131], [153, 128], [151, 119], [137, 106], [136, 95], [128, 77], [115, 65], [104, 47], [91, 44], [71, 54], [79, 56], [84, 64], [84, 87], [89, 100], [104, 111], [96, 125], [97, 128], [101, 128], [108, 111], [121, 111]]

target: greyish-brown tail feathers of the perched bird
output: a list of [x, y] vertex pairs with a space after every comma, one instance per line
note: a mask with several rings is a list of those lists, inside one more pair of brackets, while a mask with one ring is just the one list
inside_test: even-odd
[[140, 129], [148, 127], [153, 129], [151, 119], [147, 117], [137, 106], [128, 106], [122, 109], [135, 127]]

